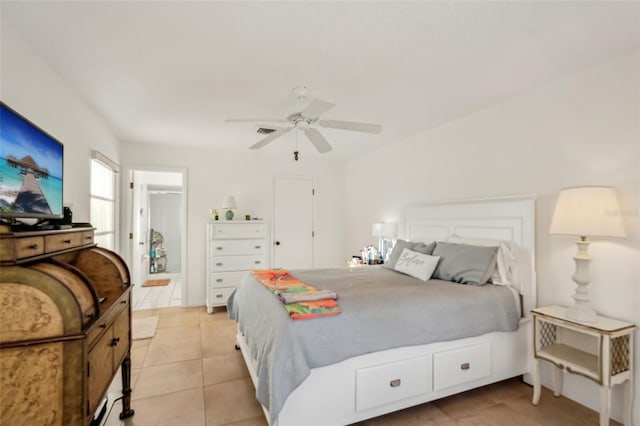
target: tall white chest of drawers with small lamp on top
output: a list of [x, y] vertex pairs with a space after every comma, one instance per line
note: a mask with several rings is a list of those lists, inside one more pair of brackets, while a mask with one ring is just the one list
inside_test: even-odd
[[268, 267], [266, 235], [264, 222], [208, 222], [207, 312], [225, 306], [248, 271]]

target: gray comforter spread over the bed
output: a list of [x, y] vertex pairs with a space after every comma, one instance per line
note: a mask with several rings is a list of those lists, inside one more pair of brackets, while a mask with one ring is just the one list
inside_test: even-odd
[[256, 397], [271, 423], [311, 368], [399, 346], [518, 328], [519, 307], [504, 286], [425, 282], [378, 267], [290, 272], [338, 293], [342, 314], [291, 320], [280, 300], [250, 275], [228, 300], [229, 316], [258, 360]]

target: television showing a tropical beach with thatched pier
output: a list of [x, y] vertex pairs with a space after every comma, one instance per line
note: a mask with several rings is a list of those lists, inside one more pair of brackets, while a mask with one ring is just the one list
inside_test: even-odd
[[0, 102], [0, 217], [63, 216], [64, 146]]

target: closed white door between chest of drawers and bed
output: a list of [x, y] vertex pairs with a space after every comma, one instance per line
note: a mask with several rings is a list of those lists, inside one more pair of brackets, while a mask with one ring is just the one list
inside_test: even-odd
[[312, 178], [274, 178], [273, 267], [313, 267], [313, 193]]

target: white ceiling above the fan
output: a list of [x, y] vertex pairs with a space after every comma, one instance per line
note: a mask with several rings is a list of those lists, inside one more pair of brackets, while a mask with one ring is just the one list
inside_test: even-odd
[[[123, 141], [247, 150], [252, 124], [282, 118], [306, 85], [323, 118], [379, 123], [380, 135], [321, 129], [351, 158], [640, 48], [640, 3], [1, 3], [36, 54]], [[268, 124], [268, 123], [263, 123]], [[316, 153], [301, 135], [302, 149]], [[295, 132], [265, 150], [295, 146]]]

